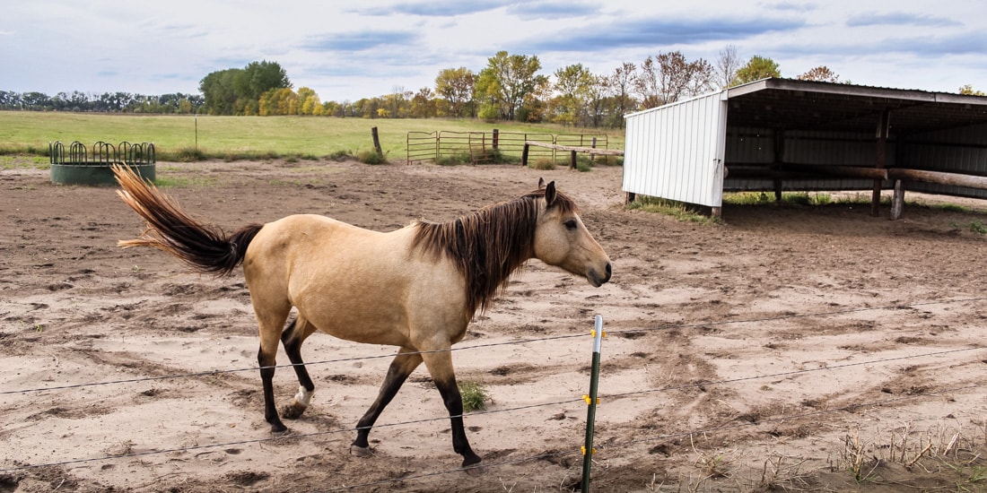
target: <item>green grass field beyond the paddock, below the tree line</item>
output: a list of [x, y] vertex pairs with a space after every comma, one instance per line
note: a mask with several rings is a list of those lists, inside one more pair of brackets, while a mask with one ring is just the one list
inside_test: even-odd
[[408, 132], [487, 131], [528, 133], [606, 133], [610, 147], [623, 147], [622, 130], [578, 129], [559, 125], [451, 119], [364, 119], [319, 116], [135, 115], [0, 111], [0, 153], [44, 155], [48, 142], [66, 146], [78, 140], [154, 143], [158, 159], [167, 161], [197, 149], [205, 156], [355, 155], [373, 149], [377, 127], [385, 155], [403, 159]]

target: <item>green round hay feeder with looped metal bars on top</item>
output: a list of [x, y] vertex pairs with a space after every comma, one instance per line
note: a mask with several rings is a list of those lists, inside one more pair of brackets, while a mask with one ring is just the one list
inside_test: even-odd
[[154, 181], [154, 144], [130, 144], [120, 142], [118, 146], [103, 141], [87, 149], [79, 141], [69, 146], [68, 154], [61, 142], [49, 142], [48, 154], [51, 159], [51, 181], [59, 184], [89, 186], [115, 185], [114, 165], [126, 166], [137, 175]]

